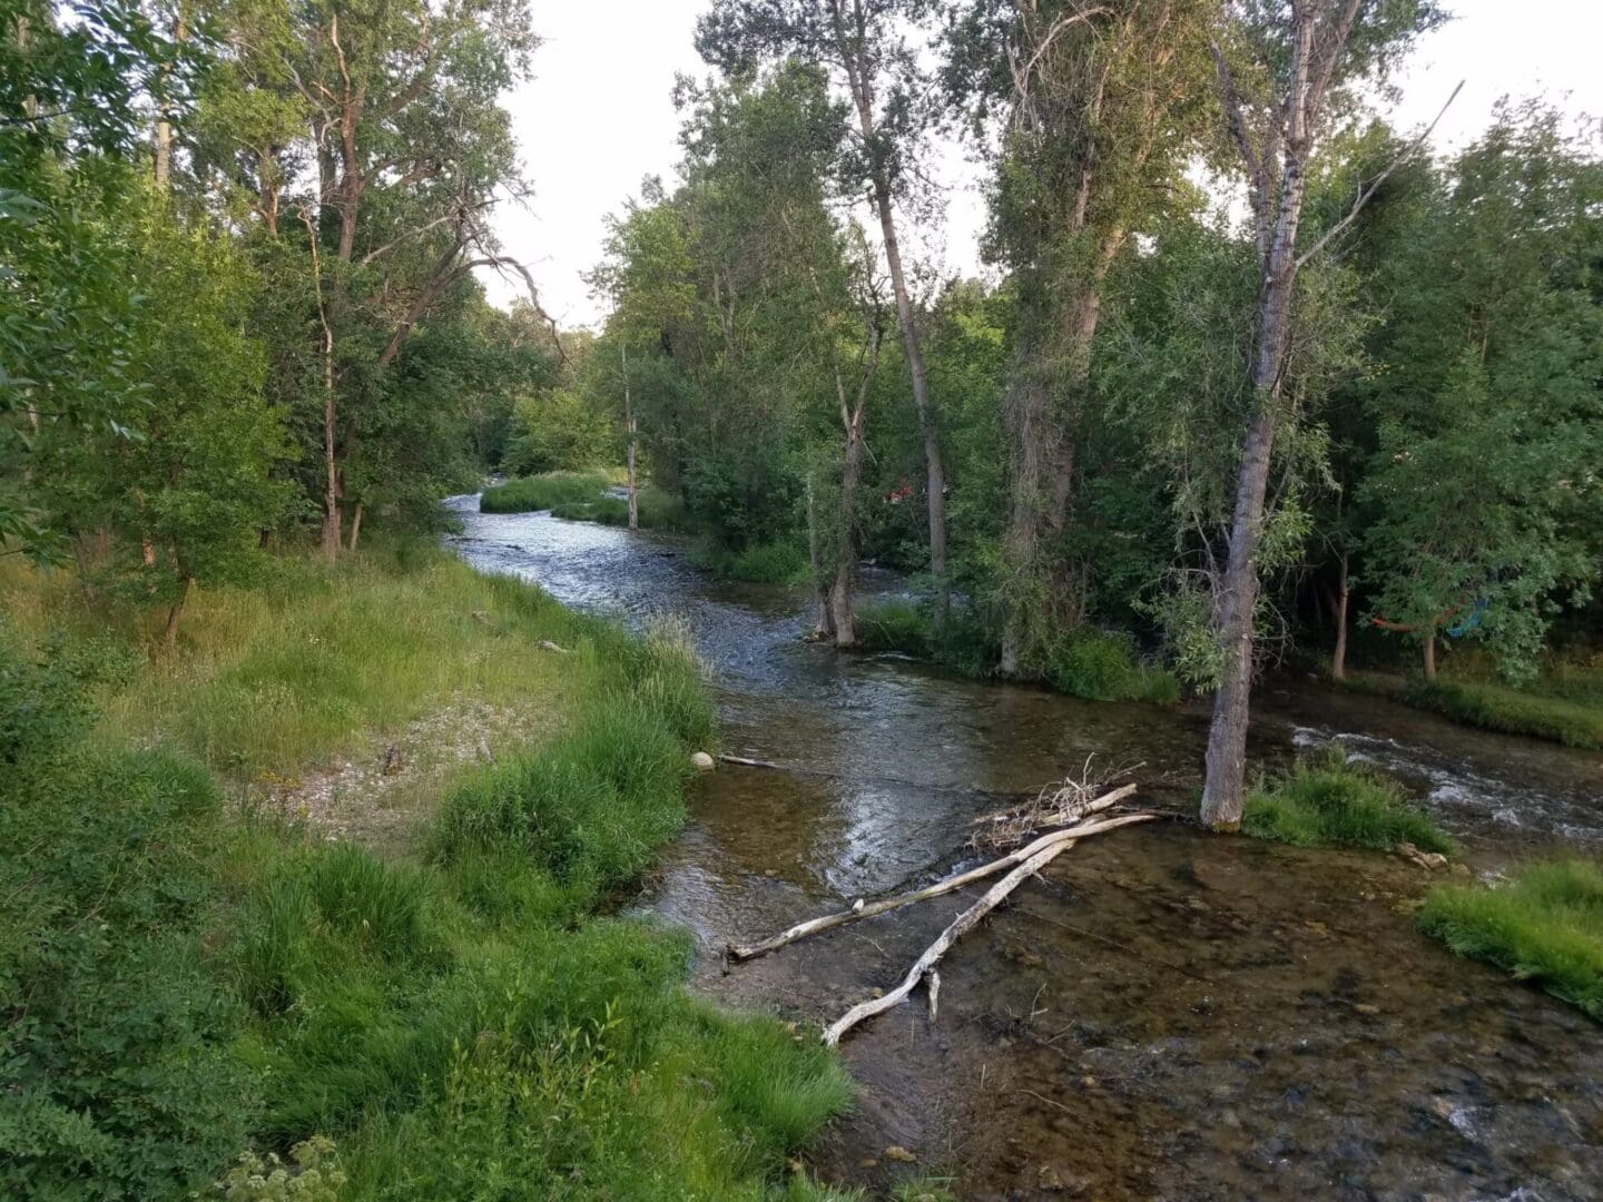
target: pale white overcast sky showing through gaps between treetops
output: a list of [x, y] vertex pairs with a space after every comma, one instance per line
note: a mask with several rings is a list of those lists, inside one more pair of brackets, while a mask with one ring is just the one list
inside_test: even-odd
[[[1436, 128], [1438, 149], [1462, 146], [1489, 120], [1499, 96], [1544, 93], [1573, 112], [1603, 115], [1603, 3], [1600, 0], [1448, 0], [1456, 19], [1425, 38], [1401, 82], [1393, 119], [1403, 127], [1436, 115], [1452, 85], [1464, 95]], [[692, 45], [705, 0], [588, 0], [535, 5], [545, 45], [535, 79], [508, 104], [535, 183], [527, 208], [507, 208], [497, 231], [540, 285], [547, 311], [564, 327], [595, 324], [603, 306], [583, 272], [601, 256], [606, 215], [638, 194], [646, 175], [672, 181], [678, 115], [668, 93], [676, 72], [704, 75]], [[943, 242], [947, 272], [978, 266], [983, 223], [978, 170], [951, 155], [946, 224], [927, 231], [925, 250]], [[486, 280], [491, 298], [515, 293]]]

